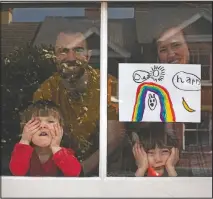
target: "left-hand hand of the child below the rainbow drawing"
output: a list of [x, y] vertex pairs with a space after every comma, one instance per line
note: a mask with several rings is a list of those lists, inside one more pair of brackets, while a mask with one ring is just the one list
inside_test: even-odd
[[145, 152], [144, 148], [140, 146], [138, 142], [136, 142], [133, 146], [133, 154], [134, 154], [138, 169], [140, 169], [141, 171], [145, 173], [149, 166], [147, 153]]

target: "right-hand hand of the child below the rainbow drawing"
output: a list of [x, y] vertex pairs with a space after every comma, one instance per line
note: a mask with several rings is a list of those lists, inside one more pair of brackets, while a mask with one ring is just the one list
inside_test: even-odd
[[171, 154], [168, 160], [166, 161], [166, 165], [165, 165], [169, 176], [177, 176], [177, 173], [175, 171], [175, 166], [178, 161], [179, 161], [179, 150], [173, 147], [171, 149]]

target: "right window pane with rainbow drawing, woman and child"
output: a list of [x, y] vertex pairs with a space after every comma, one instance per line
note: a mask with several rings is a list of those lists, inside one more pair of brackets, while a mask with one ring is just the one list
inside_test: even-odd
[[[113, 9], [119, 17], [109, 12], [107, 175], [211, 176], [211, 4], [109, 3]], [[199, 80], [172, 76], [180, 71]], [[165, 118], [159, 85], [170, 93], [175, 118]]]

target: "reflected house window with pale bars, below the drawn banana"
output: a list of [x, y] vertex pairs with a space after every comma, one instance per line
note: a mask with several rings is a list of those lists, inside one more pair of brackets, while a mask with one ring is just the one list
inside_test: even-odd
[[205, 146], [212, 145], [212, 114], [211, 112], [202, 112], [201, 123], [186, 123], [185, 124], [185, 146], [186, 150], [190, 150], [190, 146]]

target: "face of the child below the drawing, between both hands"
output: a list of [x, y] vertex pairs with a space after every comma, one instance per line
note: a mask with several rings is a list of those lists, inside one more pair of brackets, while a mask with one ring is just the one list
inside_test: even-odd
[[170, 150], [167, 148], [150, 149], [147, 151], [149, 167], [152, 167], [159, 174], [163, 174], [166, 161], [170, 156]]

